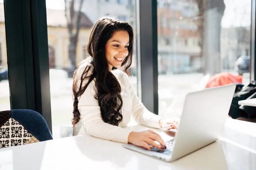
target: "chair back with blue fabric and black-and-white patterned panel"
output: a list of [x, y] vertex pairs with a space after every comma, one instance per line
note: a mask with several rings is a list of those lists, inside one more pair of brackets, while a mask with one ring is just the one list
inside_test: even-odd
[[28, 109], [0, 111], [0, 148], [51, 140], [40, 113]]

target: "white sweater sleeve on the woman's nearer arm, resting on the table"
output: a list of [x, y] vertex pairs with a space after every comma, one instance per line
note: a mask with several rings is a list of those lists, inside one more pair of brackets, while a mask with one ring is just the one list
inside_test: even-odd
[[[79, 68], [77, 73], [78, 79], [80, 79], [83, 71], [83, 67]], [[79, 81], [77, 81], [78, 85], [81, 83], [81, 81]], [[86, 82], [83, 82], [82, 86], [85, 84]], [[98, 100], [94, 98], [95, 94], [95, 81], [93, 80], [90, 82], [84, 93], [78, 98], [78, 109], [81, 114], [80, 121], [83, 125], [82, 128], [84, 128], [88, 134], [97, 138], [128, 143], [128, 136], [132, 130], [113, 126], [103, 122]]]

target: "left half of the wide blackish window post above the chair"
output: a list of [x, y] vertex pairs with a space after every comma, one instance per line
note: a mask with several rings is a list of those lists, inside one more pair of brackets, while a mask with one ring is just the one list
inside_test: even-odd
[[25, 66], [22, 1], [5, 0], [6, 47], [12, 109], [26, 109], [28, 94]]

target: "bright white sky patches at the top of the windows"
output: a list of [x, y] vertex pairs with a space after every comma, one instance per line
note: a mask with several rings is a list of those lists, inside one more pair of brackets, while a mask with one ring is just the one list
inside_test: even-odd
[[[3, 0], [0, 0], [0, 3]], [[221, 26], [224, 28], [250, 26], [251, 23], [251, 0], [224, 0], [226, 9], [222, 18]], [[64, 0], [46, 0], [49, 9], [64, 10]]]

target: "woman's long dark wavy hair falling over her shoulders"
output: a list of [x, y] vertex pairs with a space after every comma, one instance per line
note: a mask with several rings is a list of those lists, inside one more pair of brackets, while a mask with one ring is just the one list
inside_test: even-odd
[[[116, 77], [109, 71], [105, 57], [105, 45], [115, 31], [127, 31], [129, 34], [128, 56], [125, 57], [122, 66], [124, 66], [126, 74], [131, 75], [128, 68], [131, 66], [134, 48], [133, 28], [129, 23], [113, 17], [100, 18], [92, 28], [87, 45], [87, 53], [90, 57], [87, 58], [86, 61], [89, 64], [87, 64], [81, 77], [77, 77], [77, 70], [73, 76], [73, 126], [80, 120], [78, 97], [84, 93], [85, 89], [94, 78], [97, 90], [94, 98], [99, 101], [102, 120], [105, 123], [116, 126], [122, 121], [121, 108], [123, 102], [120, 95], [121, 86]], [[112, 68], [112, 70], [115, 69], [114, 67]], [[81, 80], [80, 84], [77, 84], [78, 80]], [[86, 82], [84, 86], [83, 82]]]

